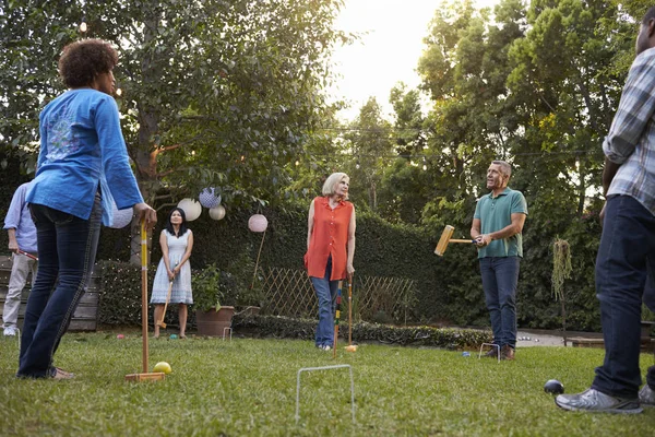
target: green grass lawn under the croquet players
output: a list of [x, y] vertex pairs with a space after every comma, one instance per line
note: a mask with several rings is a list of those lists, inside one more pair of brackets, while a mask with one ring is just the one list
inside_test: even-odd
[[[544, 382], [586, 389], [603, 351], [519, 349], [515, 362], [477, 353], [360, 345], [332, 358], [308, 341], [189, 339], [151, 341], [151, 368], [172, 366], [165, 381], [126, 382], [141, 371], [141, 338], [117, 332], [68, 334], [57, 365], [68, 381], [17, 380], [17, 341], [0, 338], [1, 436], [653, 436], [655, 409], [640, 415], [559, 410]], [[301, 367], [349, 364], [303, 374]], [[642, 369], [653, 364], [642, 355]]]

